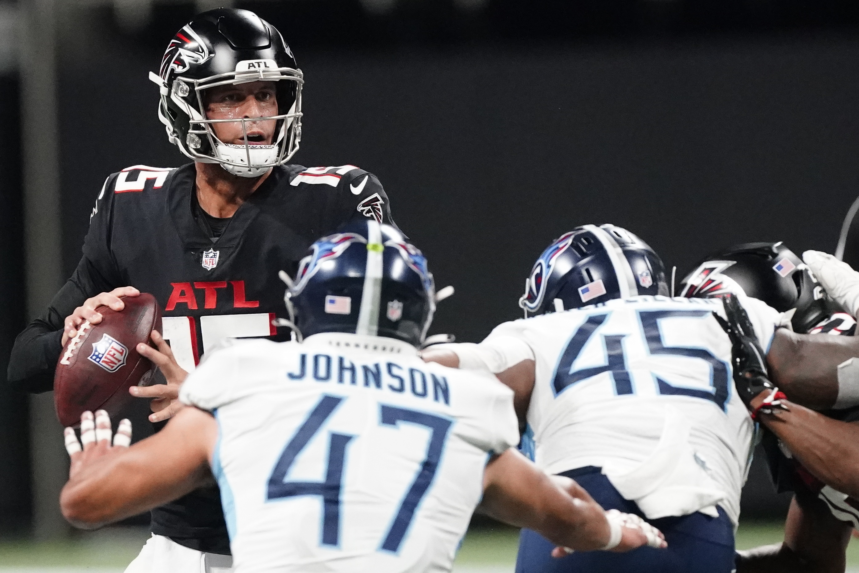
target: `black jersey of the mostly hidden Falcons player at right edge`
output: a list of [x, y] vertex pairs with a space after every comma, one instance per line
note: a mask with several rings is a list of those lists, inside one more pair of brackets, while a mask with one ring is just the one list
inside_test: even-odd
[[[853, 336], [855, 332], [856, 320], [850, 314], [837, 313], [815, 326], [809, 334]], [[842, 422], [859, 422], [859, 406], [819, 413]], [[815, 478], [770, 430], [764, 430], [761, 443], [766, 454], [767, 465], [770, 467], [772, 483], [778, 493], [783, 491], [810, 493], [813, 497], [822, 500], [836, 519], [850, 522], [853, 527], [859, 527], [859, 500]]]

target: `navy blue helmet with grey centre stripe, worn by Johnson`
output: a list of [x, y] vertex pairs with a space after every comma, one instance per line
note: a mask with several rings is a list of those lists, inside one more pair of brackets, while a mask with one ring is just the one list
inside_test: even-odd
[[285, 300], [303, 336], [354, 332], [419, 346], [436, 312], [423, 254], [390, 225], [346, 223], [314, 242]]

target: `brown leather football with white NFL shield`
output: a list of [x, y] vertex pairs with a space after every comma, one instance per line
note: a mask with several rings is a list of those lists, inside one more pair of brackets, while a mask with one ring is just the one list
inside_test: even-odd
[[101, 306], [97, 325], [84, 322], [59, 356], [54, 375], [54, 405], [64, 426], [77, 426], [84, 411], [107, 410], [116, 416], [134, 397], [132, 386], [146, 386], [155, 366], [137, 352], [149, 333], [161, 332], [155, 296], [122, 296], [125, 308]]

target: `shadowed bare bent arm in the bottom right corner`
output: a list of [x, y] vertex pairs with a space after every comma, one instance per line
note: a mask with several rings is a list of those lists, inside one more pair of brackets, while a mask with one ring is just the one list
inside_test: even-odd
[[851, 529], [811, 492], [797, 492], [784, 524], [784, 542], [737, 552], [737, 573], [841, 573]]

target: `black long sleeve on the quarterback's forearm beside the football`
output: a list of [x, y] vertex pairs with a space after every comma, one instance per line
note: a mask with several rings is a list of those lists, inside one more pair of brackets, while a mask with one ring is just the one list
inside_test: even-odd
[[112, 288], [94, 265], [83, 257], [46, 311], [15, 338], [9, 357], [9, 386], [32, 393], [51, 390], [54, 369], [63, 350], [61, 340], [65, 317], [91, 296]]

